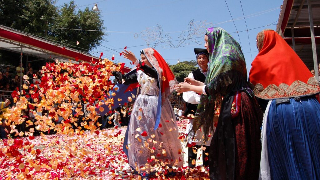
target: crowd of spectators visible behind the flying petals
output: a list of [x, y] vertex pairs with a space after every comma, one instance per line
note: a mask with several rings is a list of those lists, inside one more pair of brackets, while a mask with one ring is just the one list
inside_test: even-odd
[[[27, 76], [28, 79], [23, 78], [24, 76]], [[22, 67], [22, 64], [16, 67], [15, 69], [10, 66], [6, 66], [6, 68], [1, 70], [0, 72], [0, 103], [4, 104], [4, 102], [6, 102], [6, 99], [9, 99], [10, 104], [9, 104], [9, 107], [6, 107], [6, 108], [10, 108], [10, 106], [14, 105], [12, 101], [12, 91], [20, 91], [20, 87], [22, 87], [23, 85], [26, 85], [28, 86], [28, 89], [24, 89], [24, 90], [28, 93], [29, 90], [34, 90], [35, 87], [40, 88], [39, 86], [40, 84], [41, 84], [41, 70], [34, 71], [30, 63], [28, 64], [27, 72], [25, 72], [24, 68]], [[179, 96], [177, 96], [177, 94], [172, 94], [169, 99], [171, 101], [172, 107], [177, 106], [179, 110], [183, 109], [184, 104], [179, 100], [180, 98]], [[29, 101], [33, 102], [33, 99], [30, 97]], [[36, 103], [39, 103], [39, 101]], [[65, 102], [65, 103], [69, 103], [69, 102]], [[76, 122], [76, 125], [74, 124], [72, 125], [73, 128], [78, 128], [79, 126], [82, 126], [81, 122], [90, 120], [88, 116], [91, 112], [88, 110], [87, 107], [91, 105], [95, 105], [95, 103], [89, 104], [81, 101], [81, 102], [71, 102], [71, 105], [72, 105], [72, 108], [71, 108], [72, 116], [78, 119]], [[132, 106], [133, 106], [133, 102], [130, 102], [124, 106], [118, 107], [116, 110], [112, 111], [111, 114], [99, 116], [98, 122], [101, 125], [100, 129], [114, 127], [114, 126], [121, 127], [121, 126], [128, 125], [130, 116], [131, 116]], [[60, 104], [55, 104], [52, 107], [53, 108], [52, 111], [56, 112], [59, 107], [60, 107]], [[83, 111], [83, 115], [79, 115], [79, 113], [77, 113], [79, 111]], [[25, 132], [25, 131], [28, 131], [28, 129], [30, 128], [34, 128], [34, 125], [28, 126], [25, 124], [25, 122], [28, 120], [32, 122], [36, 122], [36, 119], [35, 119], [36, 115], [53, 116], [52, 113], [49, 113], [49, 110], [45, 110], [45, 109], [42, 112], [36, 112], [36, 113], [32, 113], [32, 112], [33, 111], [30, 110], [30, 107], [28, 107], [27, 110], [22, 112], [22, 116], [25, 117], [26, 120], [24, 121], [24, 123], [20, 125], [16, 125], [17, 130], [19, 132], [21, 131]], [[59, 124], [63, 120], [67, 120], [67, 119], [64, 119], [63, 117], [58, 116], [58, 119], [55, 119], [54, 123]], [[5, 138], [6, 136], [4, 136], [4, 129], [6, 128], [8, 132], [10, 132], [10, 127], [5, 126], [4, 119], [2, 120], [2, 122], [3, 122], [2, 126], [0, 127], [1, 138]], [[38, 135], [39, 133], [40, 132], [37, 132], [35, 130], [34, 134]], [[55, 133], [55, 131], [49, 130], [48, 132], [45, 132], [45, 133], [51, 134], [51, 133]], [[7, 133], [7, 135], [9, 134]], [[11, 135], [11, 137], [13, 137], [13, 135]]]

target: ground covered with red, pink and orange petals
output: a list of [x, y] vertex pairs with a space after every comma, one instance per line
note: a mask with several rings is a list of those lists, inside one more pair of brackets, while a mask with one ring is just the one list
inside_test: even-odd
[[[187, 123], [187, 119], [178, 122], [185, 153], [184, 167], [177, 168], [174, 176], [169, 176], [166, 169], [159, 169], [150, 179], [209, 179], [206, 168], [188, 168], [188, 149], [183, 141]], [[121, 127], [85, 131], [82, 135], [42, 134], [34, 139], [0, 141], [0, 180], [143, 179], [133, 174], [122, 151], [125, 130], [126, 127]], [[12, 156], [7, 156], [8, 153]]]

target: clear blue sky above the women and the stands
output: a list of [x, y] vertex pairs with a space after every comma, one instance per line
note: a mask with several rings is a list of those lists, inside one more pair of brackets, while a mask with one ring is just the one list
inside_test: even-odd
[[[60, 6], [68, 2], [68, 0], [57, 0], [56, 5]], [[79, 9], [84, 9], [86, 7], [85, 5], [92, 8], [95, 3], [88, 0], [76, 0], [75, 2], [79, 6]], [[231, 19], [226, 2], [234, 22]], [[129, 64], [128, 60], [119, 56], [119, 53], [116, 52], [121, 52], [122, 49], [119, 48], [124, 48], [125, 46], [135, 53], [136, 56], [140, 56], [141, 49], [153, 47], [169, 64], [176, 64], [178, 59], [180, 61], [195, 60], [196, 57], [193, 49], [195, 47], [204, 48], [204, 39], [202, 36], [205, 34], [205, 28], [199, 28], [201, 27], [199, 25], [203, 25], [204, 27], [213, 25], [214, 27], [218, 26], [227, 30], [238, 42], [241, 42], [247, 64], [247, 71], [249, 72], [252, 59], [254, 59], [258, 53], [256, 48], [256, 35], [266, 28], [276, 29], [276, 25], [270, 24], [277, 23], [280, 5], [283, 1], [242, 0], [243, 12], [240, 0], [226, 0], [226, 2], [224, 0], [97, 0], [96, 3], [104, 20], [104, 27], [106, 27], [109, 32], [107, 32], [108, 36], [105, 36], [105, 41], [102, 43], [102, 46], [90, 53], [99, 57], [100, 52], [103, 52], [103, 57], [109, 59], [111, 59], [114, 54], [115, 62], [125, 62], [128, 67], [133, 66]], [[248, 31], [249, 38], [244, 16], [247, 28], [252, 29]], [[192, 20], [196, 28], [191, 28], [191, 30], [197, 30], [197, 33], [193, 33], [190, 28], [188, 29], [188, 24]], [[162, 37], [159, 35], [155, 37], [154, 33], [156, 32], [157, 25], [162, 27]], [[261, 27], [266, 25], [270, 26]], [[149, 33], [146, 31], [147, 29], [150, 30]], [[66, 31], [68, 30], [66, 29]], [[236, 31], [243, 32], [237, 34]], [[157, 31], [157, 34], [160, 34], [159, 31]], [[194, 37], [197, 38], [192, 40], [188, 39]], [[146, 42], [146, 39], [148, 42]], [[181, 39], [186, 40], [180, 41]], [[168, 40], [177, 41], [173, 41], [171, 44], [152, 44], [156, 42], [166, 42]], [[148, 43], [150, 44], [149, 46], [147, 45]], [[116, 50], [113, 51], [108, 48]]]

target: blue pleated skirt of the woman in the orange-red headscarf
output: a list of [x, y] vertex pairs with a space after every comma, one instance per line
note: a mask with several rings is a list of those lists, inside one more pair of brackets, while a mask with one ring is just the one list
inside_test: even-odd
[[267, 120], [271, 179], [320, 179], [320, 104], [312, 96], [272, 100]]

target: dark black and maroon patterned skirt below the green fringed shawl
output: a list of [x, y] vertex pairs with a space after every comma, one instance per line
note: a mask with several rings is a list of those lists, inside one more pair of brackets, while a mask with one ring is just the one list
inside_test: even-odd
[[222, 102], [210, 145], [210, 179], [259, 179], [263, 115], [254, 97], [245, 92], [239, 94], [236, 116], [232, 114], [236, 93], [225, 96]]

